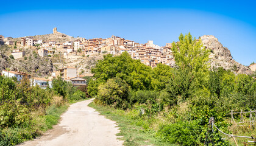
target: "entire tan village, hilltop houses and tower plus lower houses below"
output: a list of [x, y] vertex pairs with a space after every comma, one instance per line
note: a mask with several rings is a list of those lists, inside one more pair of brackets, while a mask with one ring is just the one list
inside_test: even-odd
[[[49, 40], [53, 36], [52, 40]], [[61, 54], [66, 60], [77, 57], [89, 57], [99, 54], [113, 54], [118, 55], [123, 52], [128, 52], [135, 60], [140, 60], [141, 63], [154, 68], [158, 63], [167, 64], [169, 66], [174, 64], [174, 58], [172, 57], [171, 44], [166, 44], [165, 47], [157, 46], [153, 41], [140, 44], [134, 41], [125, 40], [118, 36], [112, 36], [111, 38], [74, 38], [72, 36], [65, 35], [57, 32], [57, 28], [53, 29], [53, 33], [43, 38], [37, 38], [37, 36], [27, 36], [21, 38], [4, 37], [0, 35], [0, 44], [12, 47], [11, 58], [14, 60], [23, 59], [26, 60], [26, 51], [37, 50], [38, 56], [47, 58], [52, 57], [55, 54]], [[78, 58], [79, 59], [79, 58]], [[79, 61], [79, 60], [78, 60]], [[37, 75], [30, 75], [22, 71], [7, 71], [3, 70], [2, 75], [8, 77], [16, 77], [18, 81], [21, 81], [23, 77], [32, 78], [34, 85], [39, 85], [41, 88], [46, 88], [48, 85], [51, 87], [52, 78], [60, 76], [63, 80], [72, 82], [74, 86], [87, 85], [87, 80], [83, 77], [92, 77], [90, 72], [82, 72], [77, 67], [76, 63], [70, 61], [66, 66], [62, 68], [55, 68], [51, 72], [50, 77], [34, 77]], [[84, 73], [84, 74], [83, 74]]]

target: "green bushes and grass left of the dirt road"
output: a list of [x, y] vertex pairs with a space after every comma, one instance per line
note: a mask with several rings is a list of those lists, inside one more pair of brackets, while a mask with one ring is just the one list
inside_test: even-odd
[[53, 80], [52, 86], [41, 89], [30, 86], [27, 77], [18, 83], [16, 78], [0, 76], [0, 145], [35, 138], [58, 122], [66, 103], [87, 98], [85, 92], [60, 78]]

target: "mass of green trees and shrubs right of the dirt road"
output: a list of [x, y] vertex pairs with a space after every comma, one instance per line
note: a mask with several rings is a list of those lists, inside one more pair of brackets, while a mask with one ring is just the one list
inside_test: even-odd
[[226, 133], [256, 134], [255, 128], [241, 131], [227, 115], [232, 109], [256, 108], [256, 81], [252, 75], [235, 75], [222, 68], [211, 71], [210, 50], [190, 33], [181, 34], [179, 42], [172, 43], [172, 52], [175, 68], [158, 64], [152, 69], [133, 60], [127, 52], [115, 57], [105, 55], [91, 69], [94, 80], [90, 80], [88, 93], [96, 97], [95, 106], [115, 108], [113, 116], [124, 115], [123, 120], [118, 119], [121, 133], [126, 133], [122, 121], [129, 120], [140, 125], [140, 131], [151, 131], [159, 141], [169, 144], [233, 144], [216, 129], [209, 136], [210, 117], [215, 117], [216, 126]]

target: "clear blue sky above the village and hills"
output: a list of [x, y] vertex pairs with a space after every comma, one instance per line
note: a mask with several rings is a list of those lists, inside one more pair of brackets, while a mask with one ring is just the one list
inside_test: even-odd
[[2, 1], [0, 35], [52, 33], [127, 40], [165, 46], [180, 33], [215, 35], [233, 58], [256, 62], [254, 1]]

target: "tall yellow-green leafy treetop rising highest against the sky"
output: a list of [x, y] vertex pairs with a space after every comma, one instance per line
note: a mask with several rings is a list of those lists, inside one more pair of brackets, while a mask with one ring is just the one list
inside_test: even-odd
[[198, 85], [207, 83], [210, 50], [205, 49], [201, 39], [192, 38], [191, 34], [179, 36], [179, 42], [172, 43], [171, 48], [177, 68], [189, 69]]

